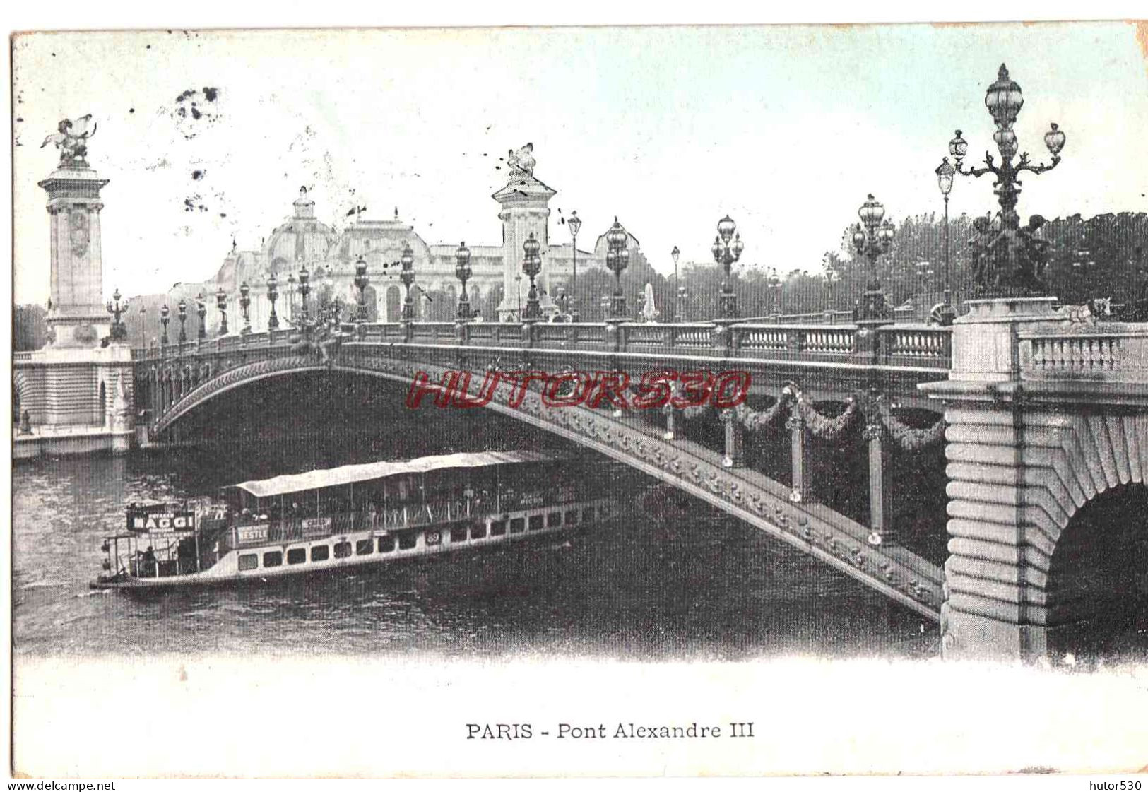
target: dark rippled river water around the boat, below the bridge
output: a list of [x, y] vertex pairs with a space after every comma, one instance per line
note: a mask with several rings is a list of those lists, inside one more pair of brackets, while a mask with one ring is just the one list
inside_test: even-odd
[[[228, 464], [211, 464], [211, 455], [226, 455]], [[296, 457], [289, 466], [304, 463]], [[100, 572], [101, 537], [123, 525], [126, 503], [209, 495], [281, 467], [225, 449], [17, 464], [17, 658], [259, 651], [700, 660], [937, 652], [933, 623], [698, 502], [677, 518], [604, 527], [573, 544], [397, 572], [152, 599], [87, 588]]]

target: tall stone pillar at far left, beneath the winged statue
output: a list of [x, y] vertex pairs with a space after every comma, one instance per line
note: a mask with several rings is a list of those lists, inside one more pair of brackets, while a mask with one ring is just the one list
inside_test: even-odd
[[39, 185], [48, 193], [51, 222], [52, 308], [49, 345], [94, 349], [110, 334], [103, 305], [100, 255], [100, 189], [108, 184], [91, 168], [72, 164], [52, 172]]

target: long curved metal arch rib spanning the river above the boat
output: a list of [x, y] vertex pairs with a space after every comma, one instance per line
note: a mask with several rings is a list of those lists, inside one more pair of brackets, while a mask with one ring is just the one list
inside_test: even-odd
[[[381, 378], [405, 391], [416, 372], [425, 371], [432, 381], [437, 381], [445, 371], [459, 367], [458, 364], [413, 363], [402, 356], [382, 357], [378, 351], [359, 352], [354, 347], [344, 348], [338, 362], [333, 360], [329, 366], [305, 355], [236, 365], [215, 372], [161, 409], [153, 425], [153, 436], [169, 436], [181, 419], [208, 402], [254, 382], [328, 372]], [[473, 372], [472, 393], [478, 390], [484, 374], [484, 371]], [[861, 522], [816, 500], [794, 502], [791, 487], [758, 471], [730, 469], [723, 465], [722, 453], [681, 436], [667, 438], [665, 425], [651, 426], [649, 417], [641, 413], [615, 417], [608, 409], [548, 407], [533, 390], [525, 395], [520, 405], [511, 406], [510, 390], [498, 387], [484, 409], [623, 461], [736, 515], [922, 615], [939, 618], [939, 566], [903, 546], [870, 545], [866, 541], [869, 528]], [[426, 397], [426, 402], [432, 399], [433, 396]]]

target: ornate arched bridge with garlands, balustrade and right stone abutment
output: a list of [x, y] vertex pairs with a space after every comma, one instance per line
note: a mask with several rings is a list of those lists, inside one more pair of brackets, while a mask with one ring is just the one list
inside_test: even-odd
[[[1148, 326], [1080, 325], [1053, 303], [972, 301], [953, 327], [362, 323], [323, 350], [271, 331], [134, 350], [133, 390], [163, 443], [222, 394], [289, 387], [304, 372], [381, 378], [398, 393], [419, 372], [443, 386], [470, 374], [473, 394], [492, 371], [635, 381], [666, 368], [746, 371], [750, 401], [720, 411], [548, 406], [537, 383], [515, 403], [506, 378], [486, 409], [620, 460], [940, 621], [949, 657], [1031, 659], [1114, 597], [1148, 593], [1142, 519], [1139, 533], [1106, 521], [1103, 542], [1081, 542], [1077, 528], [1095, 522], [1094, 502], [1132, 510], [1148, 489]], [[691, 429], [704, 425], [720, 429]], [[832, 508], [814, 476], [819, 449], [851, 427], [869, 463], [866, 519]], [[746, 442], [766, 435], [788, 436], [788, 475], [746, 464]], [[943, 442], [944, 567], [899, 534], [891, 482], [894, 453]]]

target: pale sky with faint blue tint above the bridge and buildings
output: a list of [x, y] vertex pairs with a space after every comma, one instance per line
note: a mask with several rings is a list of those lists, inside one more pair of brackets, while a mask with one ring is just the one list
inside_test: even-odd
[[[1019, 212], [1148, 211], [1148, 25], [774, 25], [25, 34], [14, 44], [17, 303], [48, 296], [39, 148], [61, 118], [99, 124], [103, 288], [163, 292], [256, 249], [308, 186], [336, 226], [400, 217], [428, 243], [499, 244], [510, 148], [534, 143], [577, 210], [580, 247], [614, 216], [651, 264], [712, 261], [730, 215], [743, 264], [820, 267], [874, 193], [898, 223], [943, 209], [933, 170], [956, 129], [992, 147], [986, 86], [1024, 91], [1021, 150], [1060, 166], [1023, 179]], [[178, 98], [183, 96], [183, 101]], [[191, 102], [199, 118], [193, 118]], [[995, 150], [995, 149], [994, 149]], [[951, 212], [994, 205], [959, 179]]]

